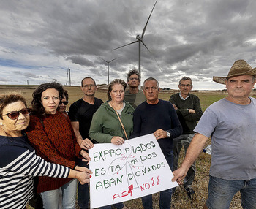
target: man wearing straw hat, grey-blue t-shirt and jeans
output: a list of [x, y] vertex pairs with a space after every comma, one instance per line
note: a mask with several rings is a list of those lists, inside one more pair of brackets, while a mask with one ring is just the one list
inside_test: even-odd
[[255, 69], [235, 61], [227, 77], [214, 77], [226, 85], [227, 97], [211, 104], [194, 131], [181, 167], [173, 181], [182, 183], [191, 164], [211, 137], [208, 199], [204, 208], [229, 208], [236, 192], [243, 208], [256, 208], [256, 99], [249, 97], [255, 85]]

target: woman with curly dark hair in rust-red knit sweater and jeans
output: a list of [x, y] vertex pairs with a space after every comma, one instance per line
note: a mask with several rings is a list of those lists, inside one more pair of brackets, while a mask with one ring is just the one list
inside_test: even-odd
[[[67, 115], [59, 112], [63, 93], [61, 84], [56, 82], [43, 83], [34, 91], [31, 121], [26, 133], [42, 159], [81, 170], [75, 164], [75, 157], [89, 159], [89, 155], [78, 145]], [[60, 191], [63, 208], [75, 208], [76, 189], [76, 180], [45, 176], [39, 177], [37, 186], [46, 209], [59, 208]]]

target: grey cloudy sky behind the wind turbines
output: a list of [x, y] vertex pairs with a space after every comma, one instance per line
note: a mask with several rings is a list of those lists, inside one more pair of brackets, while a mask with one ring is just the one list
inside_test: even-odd
[[[138, 42], [155, 0], [1, 0], [0, 84], [40, 84], [56, 79], [79, 85], [126, 80], [138, 68]], [[177, 88], [183, 76], [194, 89], [222, 89], [234, 61], [256, 66], [255, 0], [158, 0], [141, 45], [142, 80]], [[102, 61], [101, 58], [105, 61]], [[157, 64], [158, 63], [158, 64]]]

